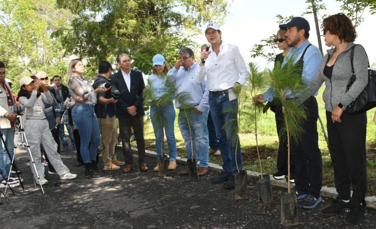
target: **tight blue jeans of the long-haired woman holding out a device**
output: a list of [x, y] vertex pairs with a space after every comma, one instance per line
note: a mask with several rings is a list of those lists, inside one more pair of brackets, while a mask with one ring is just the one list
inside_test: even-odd
[[80, 151], [84, 163], [95, 161], [101, 135], [97, 116], [94, 113], [94, 106], [85, 103], [76, 103], [72, 109], [72, 118], [80, 134]]

